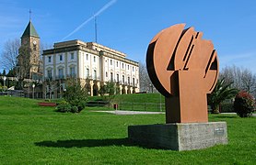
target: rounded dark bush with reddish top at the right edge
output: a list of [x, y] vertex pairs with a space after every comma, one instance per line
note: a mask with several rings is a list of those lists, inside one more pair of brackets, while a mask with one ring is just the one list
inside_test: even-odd
[[255, 101], [250, 93], [240, 92], [236, 95], [234, 110], [240, 117], [248, 117], [255, 111]]

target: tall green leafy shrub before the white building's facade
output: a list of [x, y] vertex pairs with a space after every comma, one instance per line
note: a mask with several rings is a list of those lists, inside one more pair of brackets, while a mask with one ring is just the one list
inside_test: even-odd
[[72, 106], [76, 106], [77, 112], [81, 112], [86, 106], [87, 90], [81, 87], [79, 80], [70, 79], [64, 92], [64, 100]]

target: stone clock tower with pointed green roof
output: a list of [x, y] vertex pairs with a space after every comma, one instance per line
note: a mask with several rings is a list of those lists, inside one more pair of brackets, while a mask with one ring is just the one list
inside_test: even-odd
[[29, 49], [27, 56], [29, 59], [26, 60], [29, 62], [29, 70], [25, 78], [33, 79], [33, 75], [40, 69], [40, 37], [31, 20], [21, 36], [21, 47]]

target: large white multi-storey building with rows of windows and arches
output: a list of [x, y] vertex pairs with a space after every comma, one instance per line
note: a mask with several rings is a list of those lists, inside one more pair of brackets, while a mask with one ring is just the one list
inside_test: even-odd
[[[139, 64], [126, 59], [126, 54], [94, 42], [70, 40], [43, 50], [44, 79], [59, 82], [51, 93], [59, 97], [64, 80], [80, 79], [90, 95], [98, 95], [104, 82], [116, 82], [120, 93], [139, 92]], [[49, 86], [45, 85], [45, 94]]]

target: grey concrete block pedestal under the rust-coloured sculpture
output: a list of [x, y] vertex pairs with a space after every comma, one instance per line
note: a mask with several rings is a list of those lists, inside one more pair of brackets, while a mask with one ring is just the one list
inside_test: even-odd
[[227, 144], [226, 122], [128, 126], [128, 137], [149, 148], [192, 150]]

